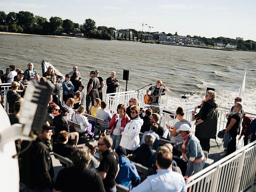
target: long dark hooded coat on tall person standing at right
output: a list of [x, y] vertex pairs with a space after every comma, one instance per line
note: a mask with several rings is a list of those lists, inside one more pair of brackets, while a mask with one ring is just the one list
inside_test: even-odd
[[[209, 108], [206, 114], [204, 109]], [[200, 109], [198, 115], [196, 116], [196, 121], [206, 116], [204, 122], [196, 125], [195, 136], [200, 139], [216, 139], [217, 124], [218, 124], [218, 104], [215, 99], [208, 100], [204, 102], [203, 107]]]

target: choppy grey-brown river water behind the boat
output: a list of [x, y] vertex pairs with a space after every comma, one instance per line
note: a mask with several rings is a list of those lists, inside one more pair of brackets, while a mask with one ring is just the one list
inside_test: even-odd
[[246, 71], [244, 109], [255, 113], [256, 52], [228, 52], [191, 47], [139, 42], [104, 41], [26, 35], [0, 35], [0, 69], [10, 64], [27, 69], [33, 62], [42, 75], [41, 60], [52, 63], [62, 74], [76, 65], [82, 82], [87, 83], [91, 70], [100, 70], [106, 80], [116, 71], [118, 83], [125, 86], [123, 69], [130, 70], [128, 88], [155, 84], [157, 79], [173, 96], [188, 93], [200, 101], [206, 87], [216, 88], [217, 102], [230, 108], [234, 103], [244, 68]]

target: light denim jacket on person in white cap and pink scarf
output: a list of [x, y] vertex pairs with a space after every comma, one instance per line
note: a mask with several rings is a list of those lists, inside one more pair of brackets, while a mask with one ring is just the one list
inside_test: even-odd
[[[175, 148], [181, 148], [183, 141], [174, 145]], [[200, 145], [199, 140], [196, 138], [195, 135], [191, 134], [186, 142], [186, 157], [189, 159], [190, 157], [196, 157], [196, 159], [201, 158], [204, 156], [204, 152]]]

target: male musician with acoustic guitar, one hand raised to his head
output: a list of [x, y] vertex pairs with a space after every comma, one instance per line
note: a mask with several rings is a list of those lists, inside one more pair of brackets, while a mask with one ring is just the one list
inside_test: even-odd
[[151, 94], [153, 94], [154, 96], [156, 96], [156, 100], [154, 102], [152, 102], [150, 105], [154, 105], [154, 106], [160, 106], [160, 102], [161, 102], [161, 94], [163, 92], [165, 93], [169, 93], [169, 89], [163, 84], [163, 82], [161, 80], [157, 80], [156, 81], [156, 85], [153, 85], [151, 87], [149, 87], [146, 91], [146, 95], [148, 100], [150, 99], [148, 92], [151, 91]]

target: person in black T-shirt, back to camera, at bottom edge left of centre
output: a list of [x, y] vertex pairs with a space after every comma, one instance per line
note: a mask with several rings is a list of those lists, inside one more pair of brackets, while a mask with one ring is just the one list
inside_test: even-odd
[[76, 148], [71, 160], [74, 166], [60, 170], [53, 191], [105, 191], [100, 175], [87, 169], [91, 160], [88, 147]]

